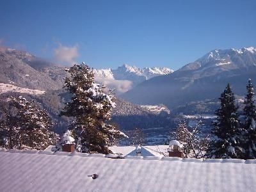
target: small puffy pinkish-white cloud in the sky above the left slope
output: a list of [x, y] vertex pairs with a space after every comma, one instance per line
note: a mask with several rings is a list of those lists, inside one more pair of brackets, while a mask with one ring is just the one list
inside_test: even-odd
[[78, 46], [67, 47], [59, 44], [59, 46], [53, 50], [53, 54], [54, 60], [72, 65], [74, 60], [79, 56]]

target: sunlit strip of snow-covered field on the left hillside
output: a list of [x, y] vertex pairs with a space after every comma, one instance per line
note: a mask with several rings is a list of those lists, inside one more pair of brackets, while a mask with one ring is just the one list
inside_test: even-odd
[[45, 91], [22, 88], [13, 84], [0, 83], [0, 94], [6, 92], [28, 93], [31, 95], [42, 95]]

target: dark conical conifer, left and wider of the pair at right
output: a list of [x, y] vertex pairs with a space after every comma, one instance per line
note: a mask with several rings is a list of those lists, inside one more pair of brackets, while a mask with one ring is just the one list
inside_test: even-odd
[[230, 84], [227, 84], [220, 97], [221, 106], [216, 110], [216, 120], [212, 123], [211, 140], [207, 150], [209, 158], [239, 158], [244, 154], [242, 129], [237, 115], [235, 97]]

